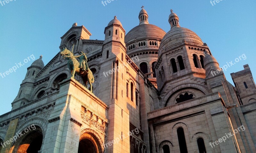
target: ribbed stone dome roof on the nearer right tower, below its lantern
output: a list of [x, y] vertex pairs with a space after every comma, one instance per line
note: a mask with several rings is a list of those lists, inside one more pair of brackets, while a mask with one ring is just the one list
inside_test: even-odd
[[175, 45], [180, 45], [184, 42], [184, 40], [187, 43], [203, 45], [201, 38], [197, 36], [195, 32], [187, 28], [175, 27], [166, 33], [163, 40], [161, 41], [159, 50], [161, 50], [163, 47], [164, 49], [167, 49]]

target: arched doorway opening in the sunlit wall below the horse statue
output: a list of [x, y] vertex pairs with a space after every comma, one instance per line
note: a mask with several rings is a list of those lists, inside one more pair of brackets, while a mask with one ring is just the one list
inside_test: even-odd
[[84, 133], [80, 136], [78, 153], [102, 153], [98, 138], [92, 133]]

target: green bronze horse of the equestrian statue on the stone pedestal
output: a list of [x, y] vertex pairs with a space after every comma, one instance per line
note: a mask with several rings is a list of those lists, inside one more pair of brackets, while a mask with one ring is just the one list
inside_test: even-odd
[[80, 63], [77, 61], [76, 58], [80, 57], [81, 55], [75, 56], [72, 52], [70, 52], [67, 48], [64, 48], [60, 55], [63, 56], [65, 59], [68, 59], [68, 69], [71, 72], [71, 78], [75, 77], [75, 73], [82, 77], [84, 81], [85, 87], [87, 88], [87, 81], [90, 84], [90, 91], [92, 92], [92, 83], [94, 82], [94, 76], [92, 71], [88, 68], [88, 72], [80, 68]]

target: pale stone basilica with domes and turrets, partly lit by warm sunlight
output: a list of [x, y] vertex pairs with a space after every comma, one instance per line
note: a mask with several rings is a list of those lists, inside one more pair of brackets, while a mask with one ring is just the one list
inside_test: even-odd
[[[167, 33], [148, 18], [142, 7], [126, 32], [115, 16], [104, 40], [73, 24], [49, 63], [41, 56], [27, 68], [0, 116], [1, 153], [255, 153], [250, 67], [231, 73], [234, 87], [173, 10]], [[72, 77], [64, 50], [84, 52], [92, 91]]]

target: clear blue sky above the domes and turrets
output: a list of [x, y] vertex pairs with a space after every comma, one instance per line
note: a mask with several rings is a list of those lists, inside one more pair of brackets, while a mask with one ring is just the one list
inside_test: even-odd
[[[3, 1], [3, 0], [2, 0]], [[209, 0], [114, 0], [103, 6], [101, 0], [16, 0], [0, 4], [0, 72], [15, 66], [30, 55], [43, 55], [46, 65], [59, 51], [60, 37], [73, 23], [84, 25], [91, 39], [104, 39], [104, 28], [116, 15], [126, 33], [139, 24], [141, 6], [147, 10], [150, 24], [170, 30], [170, 9], [179, 16], [180, 26], [188, 28], [207, 43], [220, 66], [245, 54], [247, 59], [237, 62], [225, 71], [243, 70], [249, 64], [256, 80], [256, 1], [223, 0], [212, 6]], [[0, 115], [11, 110], [20, 83], [25, 77], [28, 61], [14, 73], [0, 76]]]

